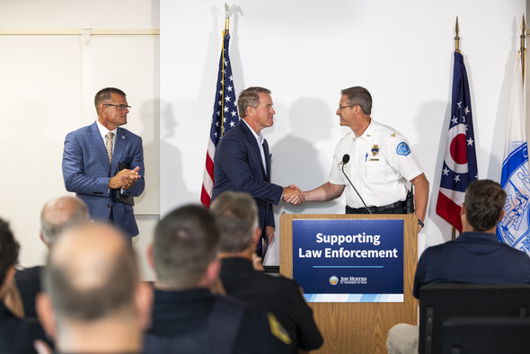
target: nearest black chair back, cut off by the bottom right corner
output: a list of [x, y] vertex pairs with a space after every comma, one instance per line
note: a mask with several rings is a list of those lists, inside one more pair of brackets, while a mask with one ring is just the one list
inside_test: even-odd
[[530, 318], [458, 317], [442, 326], [444, 354], [527, 354]]

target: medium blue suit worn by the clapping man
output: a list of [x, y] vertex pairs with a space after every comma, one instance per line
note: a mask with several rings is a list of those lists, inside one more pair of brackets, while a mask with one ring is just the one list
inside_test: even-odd
[[142, 138], [127, 129], [118, 128], [116, 143], [109, 164], [107, 150], [97, 123], [77, 129], [66, 136], [63, 152], [63, 178], [66, 190], [84, 200], [93, 220], [106, 223], [109, 221], [110, 208], [114, 223], [126, 235], [138, 235], [138, 226], [133, 208], [128, 204], [116, 201], [119, 190], [110, 190], [110, 177], [118, 173], [118, 163], [126, 163], [129, 168], [140, 167], [142, 178], [123, 194], [138, 197], [144, 191], [144, 150]]

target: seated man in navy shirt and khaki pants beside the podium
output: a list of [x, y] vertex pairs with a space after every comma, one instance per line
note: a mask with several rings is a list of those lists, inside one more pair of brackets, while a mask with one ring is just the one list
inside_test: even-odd
[[[530, 258], [499, 242], [495, 230], [504, 217], [506, 192], [499, 183], [474, 181], [465, 191], [463, 233], [429, 247], [418, 262], [413, 294], [430, 283], [530, 283]], [[400, 323], [388, 332], [389, 353], [417, 353], [418, 327]]]

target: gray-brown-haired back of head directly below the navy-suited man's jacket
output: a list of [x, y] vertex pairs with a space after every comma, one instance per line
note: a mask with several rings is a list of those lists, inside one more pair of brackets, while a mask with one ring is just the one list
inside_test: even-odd
[[213, 201], [210, 211], [221, 234], [220, 252], [239, 253], [252, 245], [258, 208], [249, 193], [225, 191]]

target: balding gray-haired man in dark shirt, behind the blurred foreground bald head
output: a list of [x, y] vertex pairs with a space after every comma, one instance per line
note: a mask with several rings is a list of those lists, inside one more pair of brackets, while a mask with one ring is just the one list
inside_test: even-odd
[[[70, 226], [90, 221], [84, 201], [68, 196], [52, 199], [40, 213], [40, 240], [49, 248], [61, 232]], [[40, 292], [40, 271], [42, 266], [18, 270], [14, 276], [20, 291], [26, 318], [37, 318], [35, 298]]]

